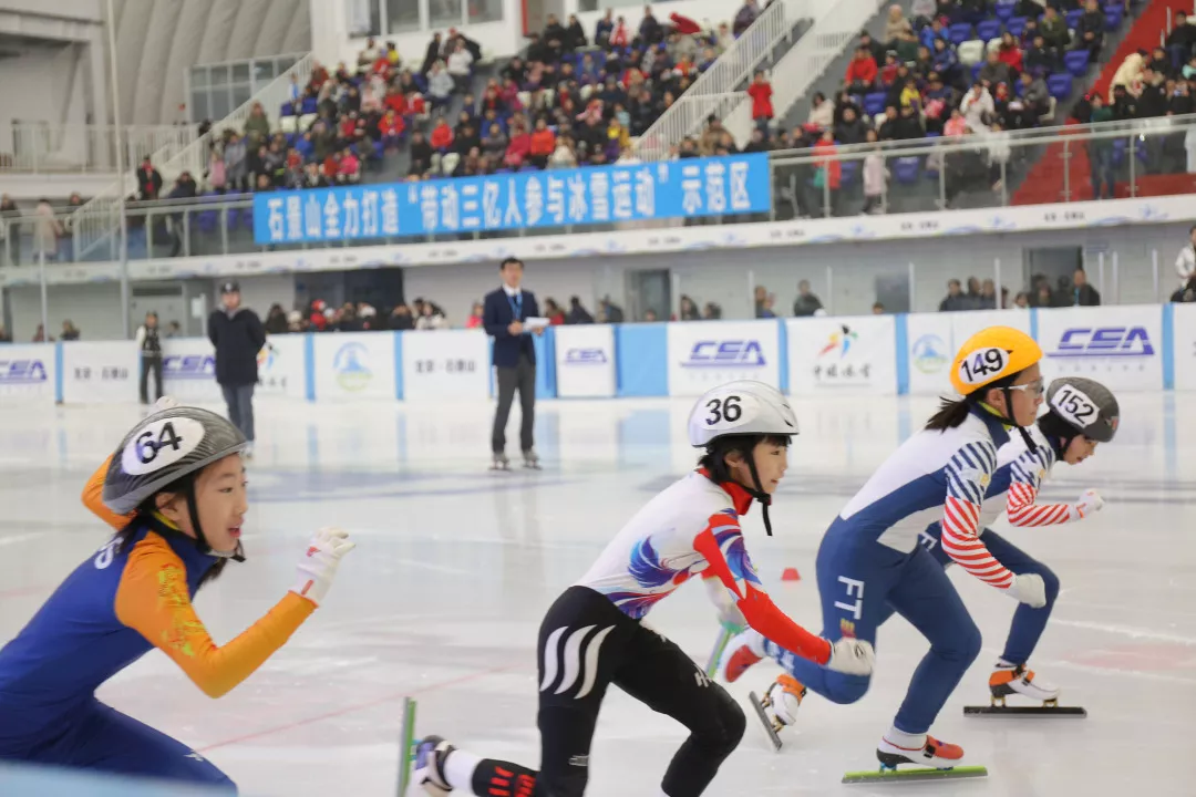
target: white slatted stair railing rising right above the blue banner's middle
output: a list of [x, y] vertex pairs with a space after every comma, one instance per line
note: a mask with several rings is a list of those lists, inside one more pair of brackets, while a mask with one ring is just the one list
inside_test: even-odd
[[[742, 92], [781, 39], [793, 35], [793, 26], [799, 19], [811, 18], [814, 8], [825, 5], [826, 0], [781, 0], [765, 8], [751, 27], [694, 81], [681, 98], [688, 102], [675, 103], [639, 137], [635, 155], [643, 160], [667, 158], [687, 136], [702, 131], [708, 116], [714, 114], [722, 118], [719, 109], [725, 108], [726, 97]], [[736, 137], [739, 139], [738, 134]]]

